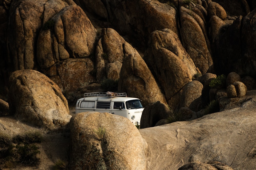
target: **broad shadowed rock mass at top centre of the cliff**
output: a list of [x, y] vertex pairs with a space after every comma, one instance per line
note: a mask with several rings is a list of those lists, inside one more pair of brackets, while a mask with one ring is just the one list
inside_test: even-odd
[[[85, 5], [90, 1], [79, 1], [79, 3], [83, 4], [84, 8], [88, 8]], [[100, 2], [96, 1], [96, 3]], [[108, 20], [121, 32], [132, 35], [130, 37], [135, 38], [135, 40], [138, 38], [140, 42], [136, 43], [141, 45], [147, 44], [148, 36], [155, 30], [169, 28], [178, 33], [176, 10], [167, 4], [155, 0], [115, 0], [103, 2], [103, 4], [104, 7], [100, 4], [89, 8], [96, 14], [98, 11], [102, 11], [104, 14], [100, 14], [100, 16], [103, 18], [106, 17], [106, 10]]]

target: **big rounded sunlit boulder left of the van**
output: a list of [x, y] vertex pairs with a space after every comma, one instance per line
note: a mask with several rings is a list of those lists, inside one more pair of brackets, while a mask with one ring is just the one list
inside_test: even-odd
[[68, 102], [60, 88], [35, 70], [19, 70], [9, 79], [9, 108], [19, 121], [47, 129], [67, 128]]

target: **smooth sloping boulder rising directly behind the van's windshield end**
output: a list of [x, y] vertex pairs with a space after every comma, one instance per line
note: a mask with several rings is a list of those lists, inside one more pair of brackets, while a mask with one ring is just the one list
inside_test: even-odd
[[154, 76], [137, 51], [126, 57], [123, 62], [118, 91], [126, 92], [129, 97], [141, 99], [144, 106], [156, 101], [167, 103]]

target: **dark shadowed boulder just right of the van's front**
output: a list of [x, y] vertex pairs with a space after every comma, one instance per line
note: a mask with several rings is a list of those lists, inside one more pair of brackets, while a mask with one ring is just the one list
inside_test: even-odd
[[141, 115], [141, 128], [153, 127], [162, 119], [167, 119], [172, 115], [169, 107], [157, 101], [146, 106]]

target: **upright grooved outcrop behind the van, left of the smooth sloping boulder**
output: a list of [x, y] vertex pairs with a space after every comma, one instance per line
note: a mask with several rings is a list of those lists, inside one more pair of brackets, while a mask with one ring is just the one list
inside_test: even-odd
[[135, 55], [136, 50], [127, 43], [115, 30], [104, 28], [96, 47], [96, 70], [97, 80], [118, 80], [121, 67], [125, 58]]

